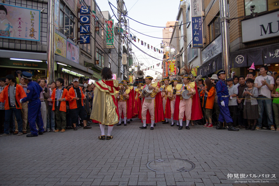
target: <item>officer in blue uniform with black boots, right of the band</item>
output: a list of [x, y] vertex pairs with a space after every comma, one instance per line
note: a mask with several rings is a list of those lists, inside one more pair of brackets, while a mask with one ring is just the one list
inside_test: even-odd
[[228, 124], [228, 130], [239, 131], [232, 126], [232, 117], [230, 117], [230, 110], [228, 107], [229, 99], [232, 97], [229, 95], [228, 87], [225, 83], [226, 72], [224, 70], [220, 70], [217, 73], [219, 81], [216, 83], [216, 91], [218, 96], [218, 105], [220, 107], [220, 114], [217, 122], [216, 129], [226, 129], [223, 127], [223, 122], [226, 121]]

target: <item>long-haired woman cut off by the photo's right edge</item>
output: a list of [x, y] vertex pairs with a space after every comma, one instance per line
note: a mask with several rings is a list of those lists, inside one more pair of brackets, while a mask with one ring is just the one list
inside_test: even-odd
[[279, 131], [279, 76], [276, 77], [276, 83], [271, 92], [271, 97], [273, 97], [272, 107], [274, 112], [274, 120], [276, 124], [276, 131]]

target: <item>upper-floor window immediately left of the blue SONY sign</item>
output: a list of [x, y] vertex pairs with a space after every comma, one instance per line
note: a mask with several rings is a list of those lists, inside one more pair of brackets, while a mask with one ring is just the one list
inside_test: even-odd
[[[65, 6], [64, 3], [60, 2], [60, 14], [59, 14], [59, 29], [61, 33], [63, 33], [65, 36], [69, 37], [71, 40], [75, 37], [75, 19], [74, 19], [74, 13], [71, 12], [69, 8]], [[64, 33], [64, 30], [68, 28], [68, 32]]]

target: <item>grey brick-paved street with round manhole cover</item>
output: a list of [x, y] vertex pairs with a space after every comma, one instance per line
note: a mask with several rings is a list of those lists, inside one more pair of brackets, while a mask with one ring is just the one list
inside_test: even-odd
[[[32, 138], [1, 137], [0, 185], [226, 186], [252, 183], [251, 179], [279, 183], [275, 131], [233, 132], [199, 125], [186, 130], [185, 124], [178, 130], [162, 123], [154, 130], [150, 125], [140, 130], [140, 120], [134, 119], [127, 126], [115, 126], [112, 140], [99, 140], [99, 125], [91, 126]], [[156, 171], [147, 168], [148, 162]], [[248, 177], [228, 180], [228, 174]], [[275, 180], [266, 180], [272, 174]]]

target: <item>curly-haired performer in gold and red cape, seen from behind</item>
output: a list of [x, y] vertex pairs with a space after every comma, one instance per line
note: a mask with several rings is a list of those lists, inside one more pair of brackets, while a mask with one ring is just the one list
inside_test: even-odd
[[[102, 70], [102, 80], [95, 83], [92, 113], [90, 118], [100, 123], [100, 140], [110, 140], [112, 128], [119, 121], [119, 112], [116, 91], [119, 91], [118, 81], [112, 79], [112, 72], [108, 67]], [[105, 126], [108, 126], [108, 135], [105, 137]]]

